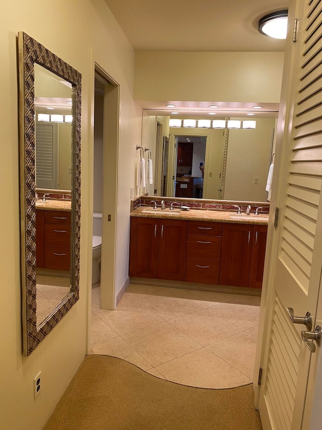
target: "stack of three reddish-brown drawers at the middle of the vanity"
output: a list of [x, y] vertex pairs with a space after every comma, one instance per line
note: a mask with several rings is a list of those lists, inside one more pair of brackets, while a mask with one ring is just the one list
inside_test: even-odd
[[222, 223], [189, 221], [186, 281], [218, 284]]

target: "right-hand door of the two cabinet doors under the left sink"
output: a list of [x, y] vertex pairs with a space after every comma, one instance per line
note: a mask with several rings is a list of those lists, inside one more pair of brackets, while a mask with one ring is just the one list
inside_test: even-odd
[[185, 280], [187, 235], [188, 221], [159, 220], [158, 279]]

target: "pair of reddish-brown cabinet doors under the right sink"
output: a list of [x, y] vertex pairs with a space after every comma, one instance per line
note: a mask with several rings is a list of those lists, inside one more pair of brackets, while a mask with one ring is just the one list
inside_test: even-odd
[[261, 288], [266, 225], [223, 224], [219, 284]]

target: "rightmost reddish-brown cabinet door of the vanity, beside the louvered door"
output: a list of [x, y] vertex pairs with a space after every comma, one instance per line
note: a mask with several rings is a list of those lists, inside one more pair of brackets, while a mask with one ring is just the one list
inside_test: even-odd
[[250, 288], [262, 288], [266, 250], [267, 225], [254, 225]]

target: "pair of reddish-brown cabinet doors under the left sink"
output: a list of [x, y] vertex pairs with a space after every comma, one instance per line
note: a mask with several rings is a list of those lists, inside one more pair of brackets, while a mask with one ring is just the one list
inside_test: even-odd
[[184, 281], [188, 221], [131, 218], [129, 274]]

